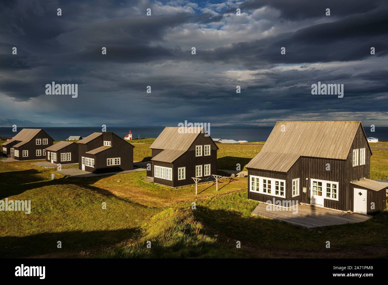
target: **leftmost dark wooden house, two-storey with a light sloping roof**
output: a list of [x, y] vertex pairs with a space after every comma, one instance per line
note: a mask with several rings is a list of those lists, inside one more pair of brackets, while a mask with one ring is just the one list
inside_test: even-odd
[[53, 143], [52, 137], [42, 129], [23, 129], [2, 144], [3, 154], [20, 161], [45, 159], [45, 149]]

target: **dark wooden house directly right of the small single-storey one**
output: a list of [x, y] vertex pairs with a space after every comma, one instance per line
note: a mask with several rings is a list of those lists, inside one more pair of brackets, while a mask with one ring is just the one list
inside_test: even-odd
[[112, 132], [92, 133], [77, 144], [82, 170], [107, 173], [133, 169], [134, 146]]

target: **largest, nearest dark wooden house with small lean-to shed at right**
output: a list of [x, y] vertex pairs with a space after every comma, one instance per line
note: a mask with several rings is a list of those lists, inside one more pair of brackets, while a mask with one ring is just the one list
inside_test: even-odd
[[369, 179], [371, 155], [360, 121], [277, 122], [246, 165], [248, 198], [382, 211], [387, 185]]

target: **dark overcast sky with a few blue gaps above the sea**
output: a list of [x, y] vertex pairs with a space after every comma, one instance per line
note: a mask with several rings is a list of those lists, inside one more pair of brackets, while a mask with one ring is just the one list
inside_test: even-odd
[[[3, 0], [0, 119], [388, 126], [387, 52], [385, 0]], [[52, 81], [78, 97], [46, 95]]]

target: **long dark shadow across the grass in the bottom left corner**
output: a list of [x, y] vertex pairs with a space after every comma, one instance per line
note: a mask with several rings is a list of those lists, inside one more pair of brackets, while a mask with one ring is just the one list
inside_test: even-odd
[[[26, 237], [0, 237], [0, 257], [20, 258], [43, 254], [56, 254], [76, 250], [88, 250], [116, 244], [121, 240], [138, 238], [140, 228], [127, 228], [110, 231], [64, 231], [40, 233]], [[62, 248], [57, 248], [61, 241]]]

